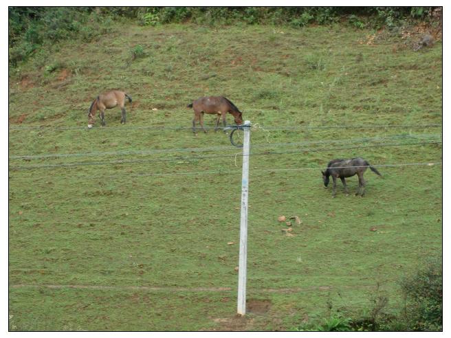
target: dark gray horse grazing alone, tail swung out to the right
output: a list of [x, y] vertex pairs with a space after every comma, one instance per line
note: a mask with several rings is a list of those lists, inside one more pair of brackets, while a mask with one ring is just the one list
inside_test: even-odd
[[357, 192], [355, 192], [355, 195], [357, 196], [358, 194], [360, 194], [360, 196], [364, 196], [365, 181], [363, 179], [363, 173], [368, 167], [379, 176], [382, 176], [382, 174], [380, 174], [380, 172], [378, 172], [376, 168], [370, 166], [368, 161], [362, 159], [362, 157], [355, 157], [353, 159], [333, 159], [327, 164], [326, 171], [321, 172], [322, 181], [325, 183], [325, 186], [327, 187], [327, 185], [329, 184], [329, 176], [332, 177], [333, 180], [332, 197], [335, 197], [338, 177], [340, 177], [340, 179], [342, 180], [344, 192], [348, 194], [348, 188], [346, 186], [346, 181], [344, 180], [344, 178], [358, 174], [359, 188], [357, 189]]

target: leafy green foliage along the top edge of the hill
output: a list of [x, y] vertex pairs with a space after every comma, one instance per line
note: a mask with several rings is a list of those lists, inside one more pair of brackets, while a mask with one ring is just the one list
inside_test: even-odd
[[292, 27], [343, 22], [356, 28], [380, 28], [410, 19], [437, 19], [437, 11], [441, 14], [434, 7], [9, 7], [9, 61], [16, 67], [45, 45], [68, 38], [91, 41], [107, 32], [114, 21]]

